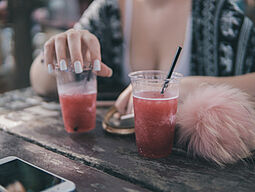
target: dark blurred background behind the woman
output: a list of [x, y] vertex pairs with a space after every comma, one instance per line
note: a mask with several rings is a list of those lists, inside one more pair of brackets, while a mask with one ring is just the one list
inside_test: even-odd
[[[0, 93], [29, 86], [44, 42], [71, 28], [92, 1], [0, 0]], [[255, 0], [233, 1], [255, 22]]]

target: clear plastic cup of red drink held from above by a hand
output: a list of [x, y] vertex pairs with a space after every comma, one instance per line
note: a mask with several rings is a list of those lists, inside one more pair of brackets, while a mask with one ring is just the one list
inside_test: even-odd
[[97, 80], [92, 71], [57, 71], [62, 117], [68, 133], [87, 132], [96, 125]]

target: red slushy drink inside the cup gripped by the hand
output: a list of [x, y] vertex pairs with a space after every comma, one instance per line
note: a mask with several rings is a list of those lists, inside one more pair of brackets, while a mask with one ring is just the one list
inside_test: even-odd
[[95, 128], [96, 97], [96, 93], [59, 96], [67, 132], [86, 132]]

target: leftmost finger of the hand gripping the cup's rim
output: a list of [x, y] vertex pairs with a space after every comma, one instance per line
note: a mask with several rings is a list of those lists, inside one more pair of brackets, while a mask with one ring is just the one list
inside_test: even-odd
[[54, 57], [55, 57], [55, 41], [54, 38], [48, 40], [44, 45], [44, 63], [48, 68], [48, 72], [52, 73], [54, 70]]

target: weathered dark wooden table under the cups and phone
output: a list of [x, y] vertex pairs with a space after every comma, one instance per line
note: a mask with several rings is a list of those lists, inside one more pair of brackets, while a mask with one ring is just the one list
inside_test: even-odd
[[253, 163], [225, 168], [192, 159], [180, 149], [164, 159], [138, 155], [135, 137], [96, 128], [67, 134], [60, 106], [30, 88], [0, 96], [0, 158], [14, 155], [73, 181], [78, 191], [255, 191]]

